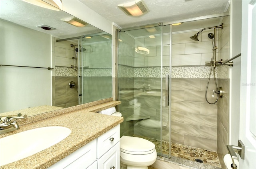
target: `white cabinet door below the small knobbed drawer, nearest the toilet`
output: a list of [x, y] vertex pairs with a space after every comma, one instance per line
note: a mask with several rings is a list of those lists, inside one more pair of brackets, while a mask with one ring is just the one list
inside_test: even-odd
[[119, 169], [120, 168], [120, 142], [116, 143], [98, 161], [98, 169]]

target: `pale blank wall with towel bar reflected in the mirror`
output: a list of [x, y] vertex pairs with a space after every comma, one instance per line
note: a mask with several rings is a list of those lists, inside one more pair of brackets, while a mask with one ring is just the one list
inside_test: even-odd
[[[51, 35], [0, 21], [2, 65], [51, 67]], [[47, 69], [1, 66], [0, 112], [51, 105], [51, 75]]]

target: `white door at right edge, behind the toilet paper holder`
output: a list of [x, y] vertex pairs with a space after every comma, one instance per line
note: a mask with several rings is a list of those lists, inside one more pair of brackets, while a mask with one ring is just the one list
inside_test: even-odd
[[[232, 69], [232, 68], [231, 68]], [[256, 0], [242, 1], [242, 55], [239, 139], [245, 145], [240, 169], [256, 167]]]

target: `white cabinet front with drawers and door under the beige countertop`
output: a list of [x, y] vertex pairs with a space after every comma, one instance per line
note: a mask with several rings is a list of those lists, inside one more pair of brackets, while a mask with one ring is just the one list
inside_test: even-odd
[[120, 124], [48, 169], [119, 169]]

